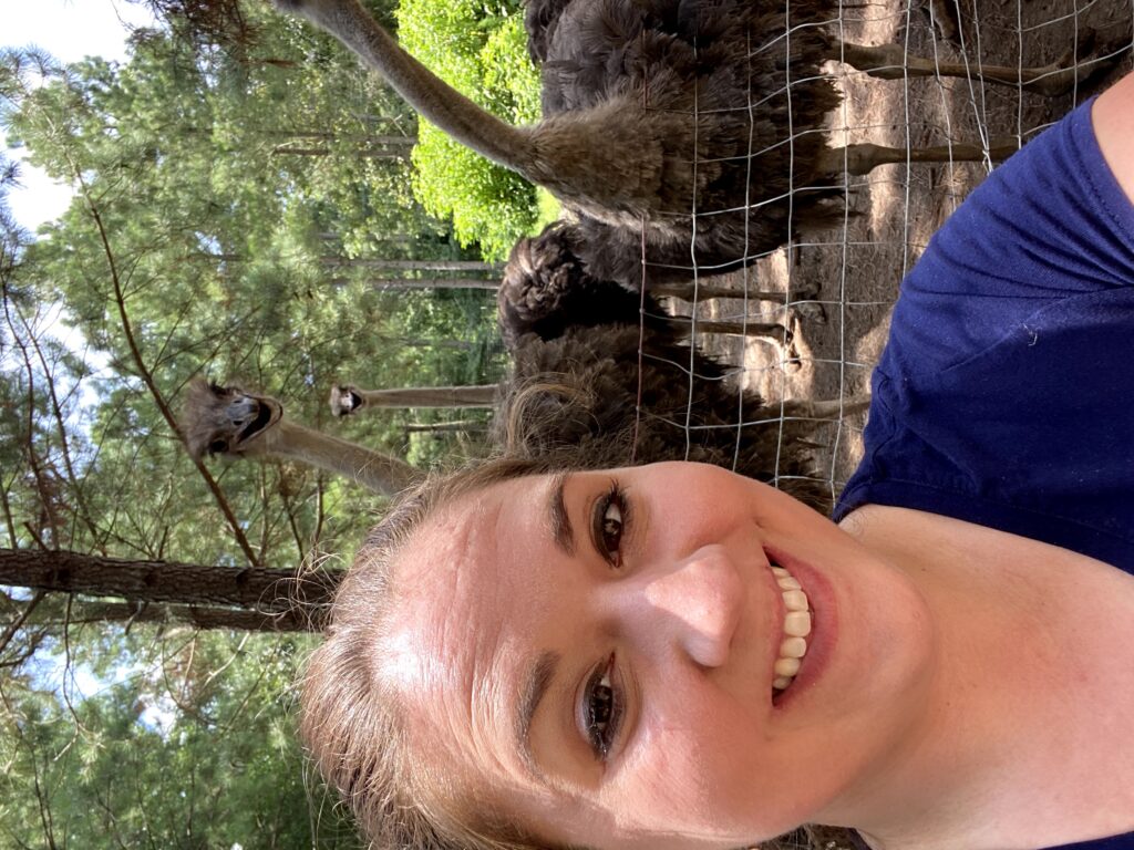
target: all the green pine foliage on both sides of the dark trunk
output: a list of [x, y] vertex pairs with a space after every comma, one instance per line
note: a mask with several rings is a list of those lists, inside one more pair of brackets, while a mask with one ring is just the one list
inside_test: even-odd
[[[344, 566], [381, 500], [296, 465], [210, 461], [217, 495], [166, 418], [196, 374], [422, 466], [477, 450], [404, 428], [464, 411], [329, 422], [337, 380], [498, 377], [493, 300], [374, 284], [397, 274], [374, 263], [465, 256], [406, 190], [414, 117], [324, 36], [247, 12], [245, 63], [164, 31], [122, 65], [0, 58], [9, 142], [78, 186], [34, 243], [0, 192], [5, 547]], [[31, 614], [0, 647], [0, 847], [357, 845], [303, 781], [281, 698], [303, 641], [78, 628], [71, 603], [93, 604], [0, 588], [6, 629]], [[61, 656], [116, 683], [68, 705], [36, 672]]]

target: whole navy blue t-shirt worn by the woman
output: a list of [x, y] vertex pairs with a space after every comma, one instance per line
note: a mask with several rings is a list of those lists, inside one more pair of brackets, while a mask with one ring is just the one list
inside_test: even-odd
[[1134, 573], [1134, 205], [1090, 109], [996, 169], [903, 282], [836, 521], [914, 508]]

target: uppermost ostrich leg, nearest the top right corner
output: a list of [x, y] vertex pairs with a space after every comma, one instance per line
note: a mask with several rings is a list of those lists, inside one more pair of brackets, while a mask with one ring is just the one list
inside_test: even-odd
[[[1089, 32], [1085, 40], [1093, 42]], [[1019, 86], [1031, 92], [1053, 97], [1066, 94], [1076, 85], [1107, 67], [1111, 60], [1090, 59], [1075, 61], [1075, 50], [1068, 51], [1061, 60], [1038, 68], [1009, 68], [1004, 65], [974, 65], [964, 62], [939, 62], [932, 59], [907, 56], [898, 44], [881, 44], [877, 48], [850, 42], [835, 42], [832, 59], [852, 65], [858, 70], [879, 79], [904, 79], [905, 77], [975, 77], [988, 83]]]

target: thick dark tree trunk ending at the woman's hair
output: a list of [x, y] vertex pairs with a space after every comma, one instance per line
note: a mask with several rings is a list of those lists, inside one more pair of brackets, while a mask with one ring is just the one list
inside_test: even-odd
[[174, 561], [126, 561], [67, 551], [0, 549], [0, 585], [120, 597], [129, 602], [230, 606], [260, 614], [316, 617], [341, 573]]

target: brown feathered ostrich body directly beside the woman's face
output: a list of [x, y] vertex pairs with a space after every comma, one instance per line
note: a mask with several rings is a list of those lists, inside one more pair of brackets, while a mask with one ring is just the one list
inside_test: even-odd
[[863, 401], [765, 402], [733, 389], [728, 369], [695, 346], [635, 324], [525, 334], [494, 441], [519, 457], [602, 469], [660, 460], [725, 466], [828, 512], [818, 459], [824, 423]]

